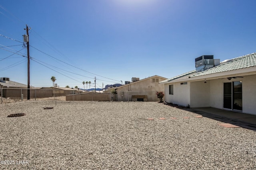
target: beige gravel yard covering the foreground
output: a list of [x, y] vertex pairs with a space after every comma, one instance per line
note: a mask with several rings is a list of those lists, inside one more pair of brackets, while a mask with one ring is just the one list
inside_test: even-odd
[[255, 131], [197, 115], [158, 102], [0, 104], [0, 169], [256, 169]]

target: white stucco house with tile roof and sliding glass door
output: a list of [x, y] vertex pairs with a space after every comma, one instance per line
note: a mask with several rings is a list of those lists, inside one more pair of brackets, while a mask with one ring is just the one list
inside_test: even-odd
[[160, 84], [164, 84], [167, 103], [256, 115], [256, 53], [224, 61], [207, 70], [193, 70]]

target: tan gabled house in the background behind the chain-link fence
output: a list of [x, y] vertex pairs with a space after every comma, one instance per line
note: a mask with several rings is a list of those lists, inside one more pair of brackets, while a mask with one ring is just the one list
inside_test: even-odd
[[151, 76], [142, 80], [132, 78], [132, 82], [114, 87], [105, 92], [110, 92], [114, 89], [117, 93], [117, 101], [156, 102], [159, 101], [156, 96], [156, 91], [164, 91], [164, 84], [159, 84], [159, 82], [163, 80], [166, 80], [166, 78], [160, 76]]

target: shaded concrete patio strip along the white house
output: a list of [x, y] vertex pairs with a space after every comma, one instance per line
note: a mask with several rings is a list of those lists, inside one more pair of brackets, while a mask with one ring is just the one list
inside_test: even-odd
[[191, 108], [185, 110], [198, 113], [210, 119], [216, 119], [218, 121], [231, 123], [233, 125], [256, 131], [256, 115], [216, 109], [213, 107]]

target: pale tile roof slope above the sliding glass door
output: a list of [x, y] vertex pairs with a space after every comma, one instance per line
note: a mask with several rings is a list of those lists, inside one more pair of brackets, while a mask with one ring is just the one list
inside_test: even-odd
[[214, 74], [218, 72], [225, 72], [230, 70], [237, 70], [241, 68], [253, 67], [256, 66], [256, 53], [244, 55], [242, 57], [237, 57], [226, 62], [222, 62], [220, 65], [202, 72], [197, 72], [196, 74], [190, 77], [203, 76], [207, 74]]

